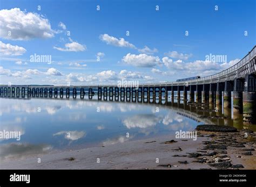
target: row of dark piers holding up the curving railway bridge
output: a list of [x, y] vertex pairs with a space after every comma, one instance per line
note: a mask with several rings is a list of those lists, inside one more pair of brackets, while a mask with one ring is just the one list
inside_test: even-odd
[[[143, 87], [0, 87], [0, 93], [15, 93], [22, 95], [35, 96], [38, 94], [49, 94], [55, 97], [70, 97], [72, 93], [73, 98], [79, 94], [80, 98], [84, 98], [87, 94], [89, 99], [93, 95], [98, 96], [98, 99], [119, 99], [137, 102], [161, 103], [164, 99], [168, 102], [169, 93], [171, 92], [171, 99], [189, 100], [190, 103], [209, 103], [214, 105], [215, 109], [221, 110], [231, 108], [231, 93], [233, 92], [233, 113], [240, 113], [244, 117], [244, 121], [250, 124], [256, 124], [256, 76], [246, 75], [245, 78], [236, 78], [233, 81], [225, 81], [210, 84], [196, 84], [196, 85], [166, 85], [166, 86], [143, 86]], [[95, 93], [96, 92], [96, 93]], [[176, 95], [174, 95], [176, 92]], [[181, 92], [183, 93], [181, 95]], [[188, 97], [187, 97], [187, 94]], [[132, 99], [130, 99], [132, 97]], [[146, 100], [146, 101], [145, 101]], [[158, 101], [158, 102], [157, 102]]]

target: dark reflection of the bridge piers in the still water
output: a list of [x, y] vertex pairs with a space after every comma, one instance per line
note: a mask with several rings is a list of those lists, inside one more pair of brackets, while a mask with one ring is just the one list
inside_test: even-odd
[[[87, 97], [86, 97], [87, 96]], [[221, 105], [218, 105], [216, 99], [213, 98], [212, 102], [196, 103], [193, 102], [193, 99], [187, 99], [178, 95], [178, 92], [161, 95], [160, 92], [153, 93], [149, 95], [144, 95], [142, 92], [131, 91], [125, 94], [124, 91], [107, 91], [103, 94], [94, 94], [93, 92], [89, 93], [76, 93], [76, 92], [60, 92], [55, 94], [48, 94], [42, 92], [35, 92], [26, 94], [22, 92], [3, 92], [0, 93], [1, 98], [12, 98], [12, 99], [58, 99], [58, 100], [69, 100], [69, 99], [82, 99], [84, 101], [93, 101], [93, 102], [124, 102], [129, 103], [138, 103], [143, 105], [153, 105], [156, 108], [171, 110], [177, 114], [190, 118], [197, 122], [202, 122], [204, 124], [214, 124], [214, 125], [225, 125], [225, 126], [234, 126], [238, 129], [249, 128], [253, 131], [256, 131], [255, 124], [249, 124], [248, 121], [244, 120], [242, 113], [237, 112], [234, 109], [233, 102], [231, 102], [231, 107], [227, 108]], [[233, 94], [231, 95], [233, 98]], [[225, 97], [222, 97], [222, 101]], [[233, 99], [232, 99], [233, 101]], [[218, 107], [219, 106], [219, 107]]]

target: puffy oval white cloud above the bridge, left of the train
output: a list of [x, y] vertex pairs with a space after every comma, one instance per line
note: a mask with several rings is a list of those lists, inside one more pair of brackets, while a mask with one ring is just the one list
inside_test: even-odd
[[122, 61], [136, 67], [154, 67], [158, 63], [156, 56], [146, 54], [135, 55], [131, 53], [124, 56]]

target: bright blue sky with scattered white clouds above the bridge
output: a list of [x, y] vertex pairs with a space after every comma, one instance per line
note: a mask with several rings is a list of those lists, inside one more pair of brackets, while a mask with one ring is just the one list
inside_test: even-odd
[[[255, 21], [253, 0], [2, 0], [0, 83], [85, 85], [207, 76], [252, 49]], [[51, 62], [31, 61], [35, 54]], [[210, 54], [225, 55], [226, 61], [206, 60]]]

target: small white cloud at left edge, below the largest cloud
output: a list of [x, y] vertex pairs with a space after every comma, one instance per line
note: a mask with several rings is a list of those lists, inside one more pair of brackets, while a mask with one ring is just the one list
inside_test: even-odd
[[12, 46], [11, 44], [4, 44], [2, 41], [0, 41], [0, 53], [3, 55], [18, 56], [23, 55], [25, 52], [26, 49], [24, 47]]

